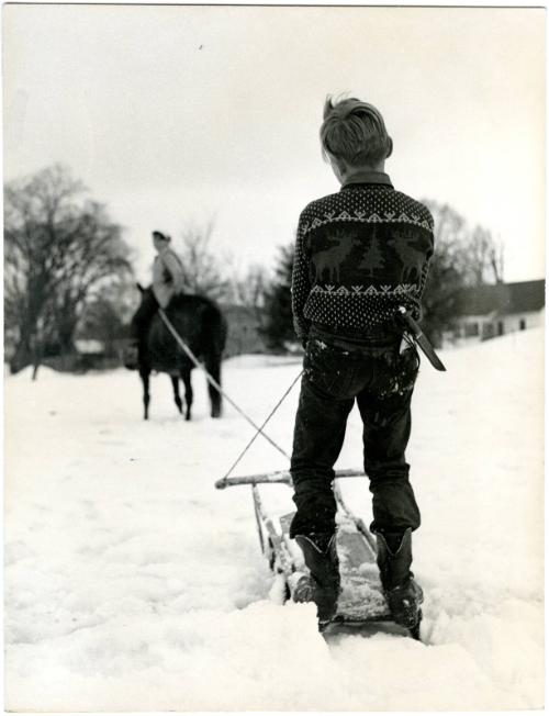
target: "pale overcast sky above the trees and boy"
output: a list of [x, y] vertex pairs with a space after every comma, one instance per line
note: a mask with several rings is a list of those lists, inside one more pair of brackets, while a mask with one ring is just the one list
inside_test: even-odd
[[272, 269], [301, 210], [338, 190], [326, 94], [376, 104], [396, 189], [450, 203], [545, 273], [545, 10], [3, 7], [3, 176], [69, 166], [124, 226], [139, 280], [150, 232], [214, 221], [223, 261]]

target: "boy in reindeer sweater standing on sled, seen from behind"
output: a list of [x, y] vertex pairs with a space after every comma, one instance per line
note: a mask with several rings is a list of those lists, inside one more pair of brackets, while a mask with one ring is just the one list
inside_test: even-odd
[[405, 306], [419, 317], [433, 217], [395, 191], [384, 174], [393, 143], [374, 107], [328, 97], [321, 143], [341, 189], [311, 202], [298, 227], [292, 311], [305, 357], [291, 460], [298, 510], [290, 534], [311, 571], [323, 628], [339, 591], [333, 468], [356, 400], [381, 583], [395, 622], [413, 628], [423, 601], [410, 571], [419, 511], [404, 450], [419, 359], [411, 343], [400, 350], [406, 343], [396, 314]]

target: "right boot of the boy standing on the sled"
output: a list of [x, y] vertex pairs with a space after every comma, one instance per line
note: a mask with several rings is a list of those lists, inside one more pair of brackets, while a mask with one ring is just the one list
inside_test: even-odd
[[412, 529], [404, 533], [396, 551], [391, 551], [385, 537], [376, 534], [378, 540], [378, 567], [381, 584], [393, 619], [407, 629], [418, 627], [422, 619], [419, 605], [423, 590], [410, 571], [412, 564]]

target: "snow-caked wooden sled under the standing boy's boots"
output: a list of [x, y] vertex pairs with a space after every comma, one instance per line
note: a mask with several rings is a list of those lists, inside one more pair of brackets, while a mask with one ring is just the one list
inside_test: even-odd
[[[363, 477], [356, 470], [336, 471], [334, 494], [337, 502], [336, 547], [339, 557], [341, 590], [337, 612], [325, 633], [340, 627], [393, 622], [385, 602], [376, 562], [376, 538], [360, 517], [354, 515], [346, 504], [338, 480]], [[287, 471], [229, 478], [216, 486], [250, 484], [257, 521], [259, 544], [269, 568], [279, 580], [282, 598], [304, 602], [312, 600], [312, 584], [303, 553], [290, 538], [290, 524], [294, 514], [291, 493], [280, 484], [291, 486]], [[410, 635], [419, 639], [419, 622]], [[406, 631], [405, 629], [403, 631]]]

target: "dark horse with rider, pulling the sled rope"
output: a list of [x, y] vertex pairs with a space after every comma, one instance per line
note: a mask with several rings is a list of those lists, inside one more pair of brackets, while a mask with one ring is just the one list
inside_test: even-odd
[[[153, 289], [144, 289], [139, 284], [142, 302], [147, 292]], [[192, 350], [198, 359], [204, 363], [210, 376], [221, 385], [221, 356], [225, 347], [227, 324], [220, 309], [201, 295], [181, 294], [171, 299], [165, 311], [171, 325], [182, 340]], [[124, 353], [124, 365], [130, 370], [138, 370], [143, 382], [143, 405], [144, 417], [148, 419], [148, 405], [150, 402], [149, 377], [153, 370], [168, 373], [173, 385], [173, 398], [180, 413], [183, 412], [181, 398], [179, 395], [179, 379], [183, 381], [184, 400], [187, 410], [184, 417], [191, 419], [192, 385], [191, 370], [194, 363], [182, 350], [169, 328], [164, 323], [159, 313], [156, 313], [148, 327], [146, 350], [144, 355], [127, 349]], [[220, 392], [209, 382], [212, 417], [221, 416], [222, 396]]]

